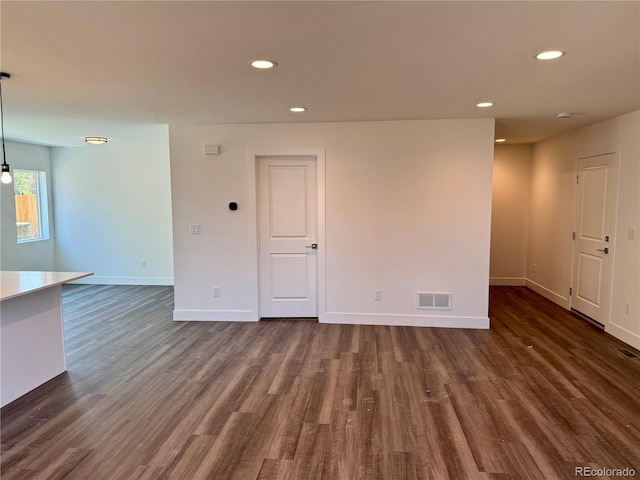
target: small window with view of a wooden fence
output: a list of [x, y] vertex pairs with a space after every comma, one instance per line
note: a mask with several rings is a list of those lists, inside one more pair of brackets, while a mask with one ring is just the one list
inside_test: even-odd
[[14, 170], [18, 243], [49, 238], [49, 209], [45, 172]]

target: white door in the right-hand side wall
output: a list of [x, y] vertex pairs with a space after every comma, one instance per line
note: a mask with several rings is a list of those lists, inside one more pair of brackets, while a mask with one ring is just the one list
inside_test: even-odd
[[581, 158], [571, 307], [602, 325], [609, 321], [617, 199], [614, 153]]

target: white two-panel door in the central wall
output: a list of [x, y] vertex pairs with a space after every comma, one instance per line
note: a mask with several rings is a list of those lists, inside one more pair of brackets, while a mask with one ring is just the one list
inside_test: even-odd
[[318, 316], [316, 164], [258, 158], [261, 317]]

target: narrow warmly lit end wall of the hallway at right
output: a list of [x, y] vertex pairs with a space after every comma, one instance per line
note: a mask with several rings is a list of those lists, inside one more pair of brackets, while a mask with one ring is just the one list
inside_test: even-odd
[[495, 147], [491, 285], [526, 284], [531, 152], [530, 144]]

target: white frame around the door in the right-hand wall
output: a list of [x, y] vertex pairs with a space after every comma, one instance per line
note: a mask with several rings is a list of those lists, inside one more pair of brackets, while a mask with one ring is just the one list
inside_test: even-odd
[[[588, 158], [594, 158], [594, 157], [602, 157], [605, 155], [612, 155], [612, 164], [611, 166], [611, 170], [612, 170], [612, 174], [614, 175], [614, 184], [615, 184], [615, 199], [614, 199], [614, 206], [613, 206], [613, 219], [612, 219], [612, 226], [611, 226], [611, 234], [613, 235], [613, 242], [611, 243], [611, 255], [610, 255], [610, 262], [611, 262], [611, 271], [610, 271], [610, 278], [609, 278], [609, 299], [608, 299], [608, 308], [607, 310], [604, 312], [605, 313], [605, 318], [601, 319], [602, 323], [600, 322], [600, 320], [595, 320], [595, 319], [591, 319], [591, 320], [595, 320], [597, 323], [601, 323], [602, 326], [605, 328], [605, 330], [608, 328], [610, 322], [611, 322], [611, 311], [613, 309], [613, 279], [614, 279], [614, 268], [615, 268], [615, 255], [616, 255], [616, 251], [617, 251], [617, 245], [618, 245], [618, 203], [619, 203], [619, 198], [620, 198], [620, 146], [614, 146], [611, 148], [600, 148], [600, 149], [593, 149], [593, 150], [586, 150], [586, 151], [578, 151], [575, 155], [575, 200], [574, 200], [574, 207], [573, 207], [573, 234], [576, 235], [577, 234], [577, 227], [578, 227], [578, 216], [580, 215], [581, 211], [580, 208], [582, 206], [580, 198], [578, 196], [580, 188], [578, 185], [578, 181], [579, 181], [579, 174], [580, 174], [580, 164], [582, 160], [588, 159]], [[571, 289], [572, 289], [572, 294], [569, 295], [569, 310], [572, 310], [578, 314], [581, 314], [581, 312], [579, 310], [574, 310], [574, 296], [576, 294], [576, 282], [577, 282], [577, 278], [575, 277], [575, 262], [576, 262], [576, 254], [577, 254], [577, 242], [575, 241], [575, 239], [572, 240], [572, 245], [571, 245]], [[589, 318], [589, 317], [586, 317]]]

